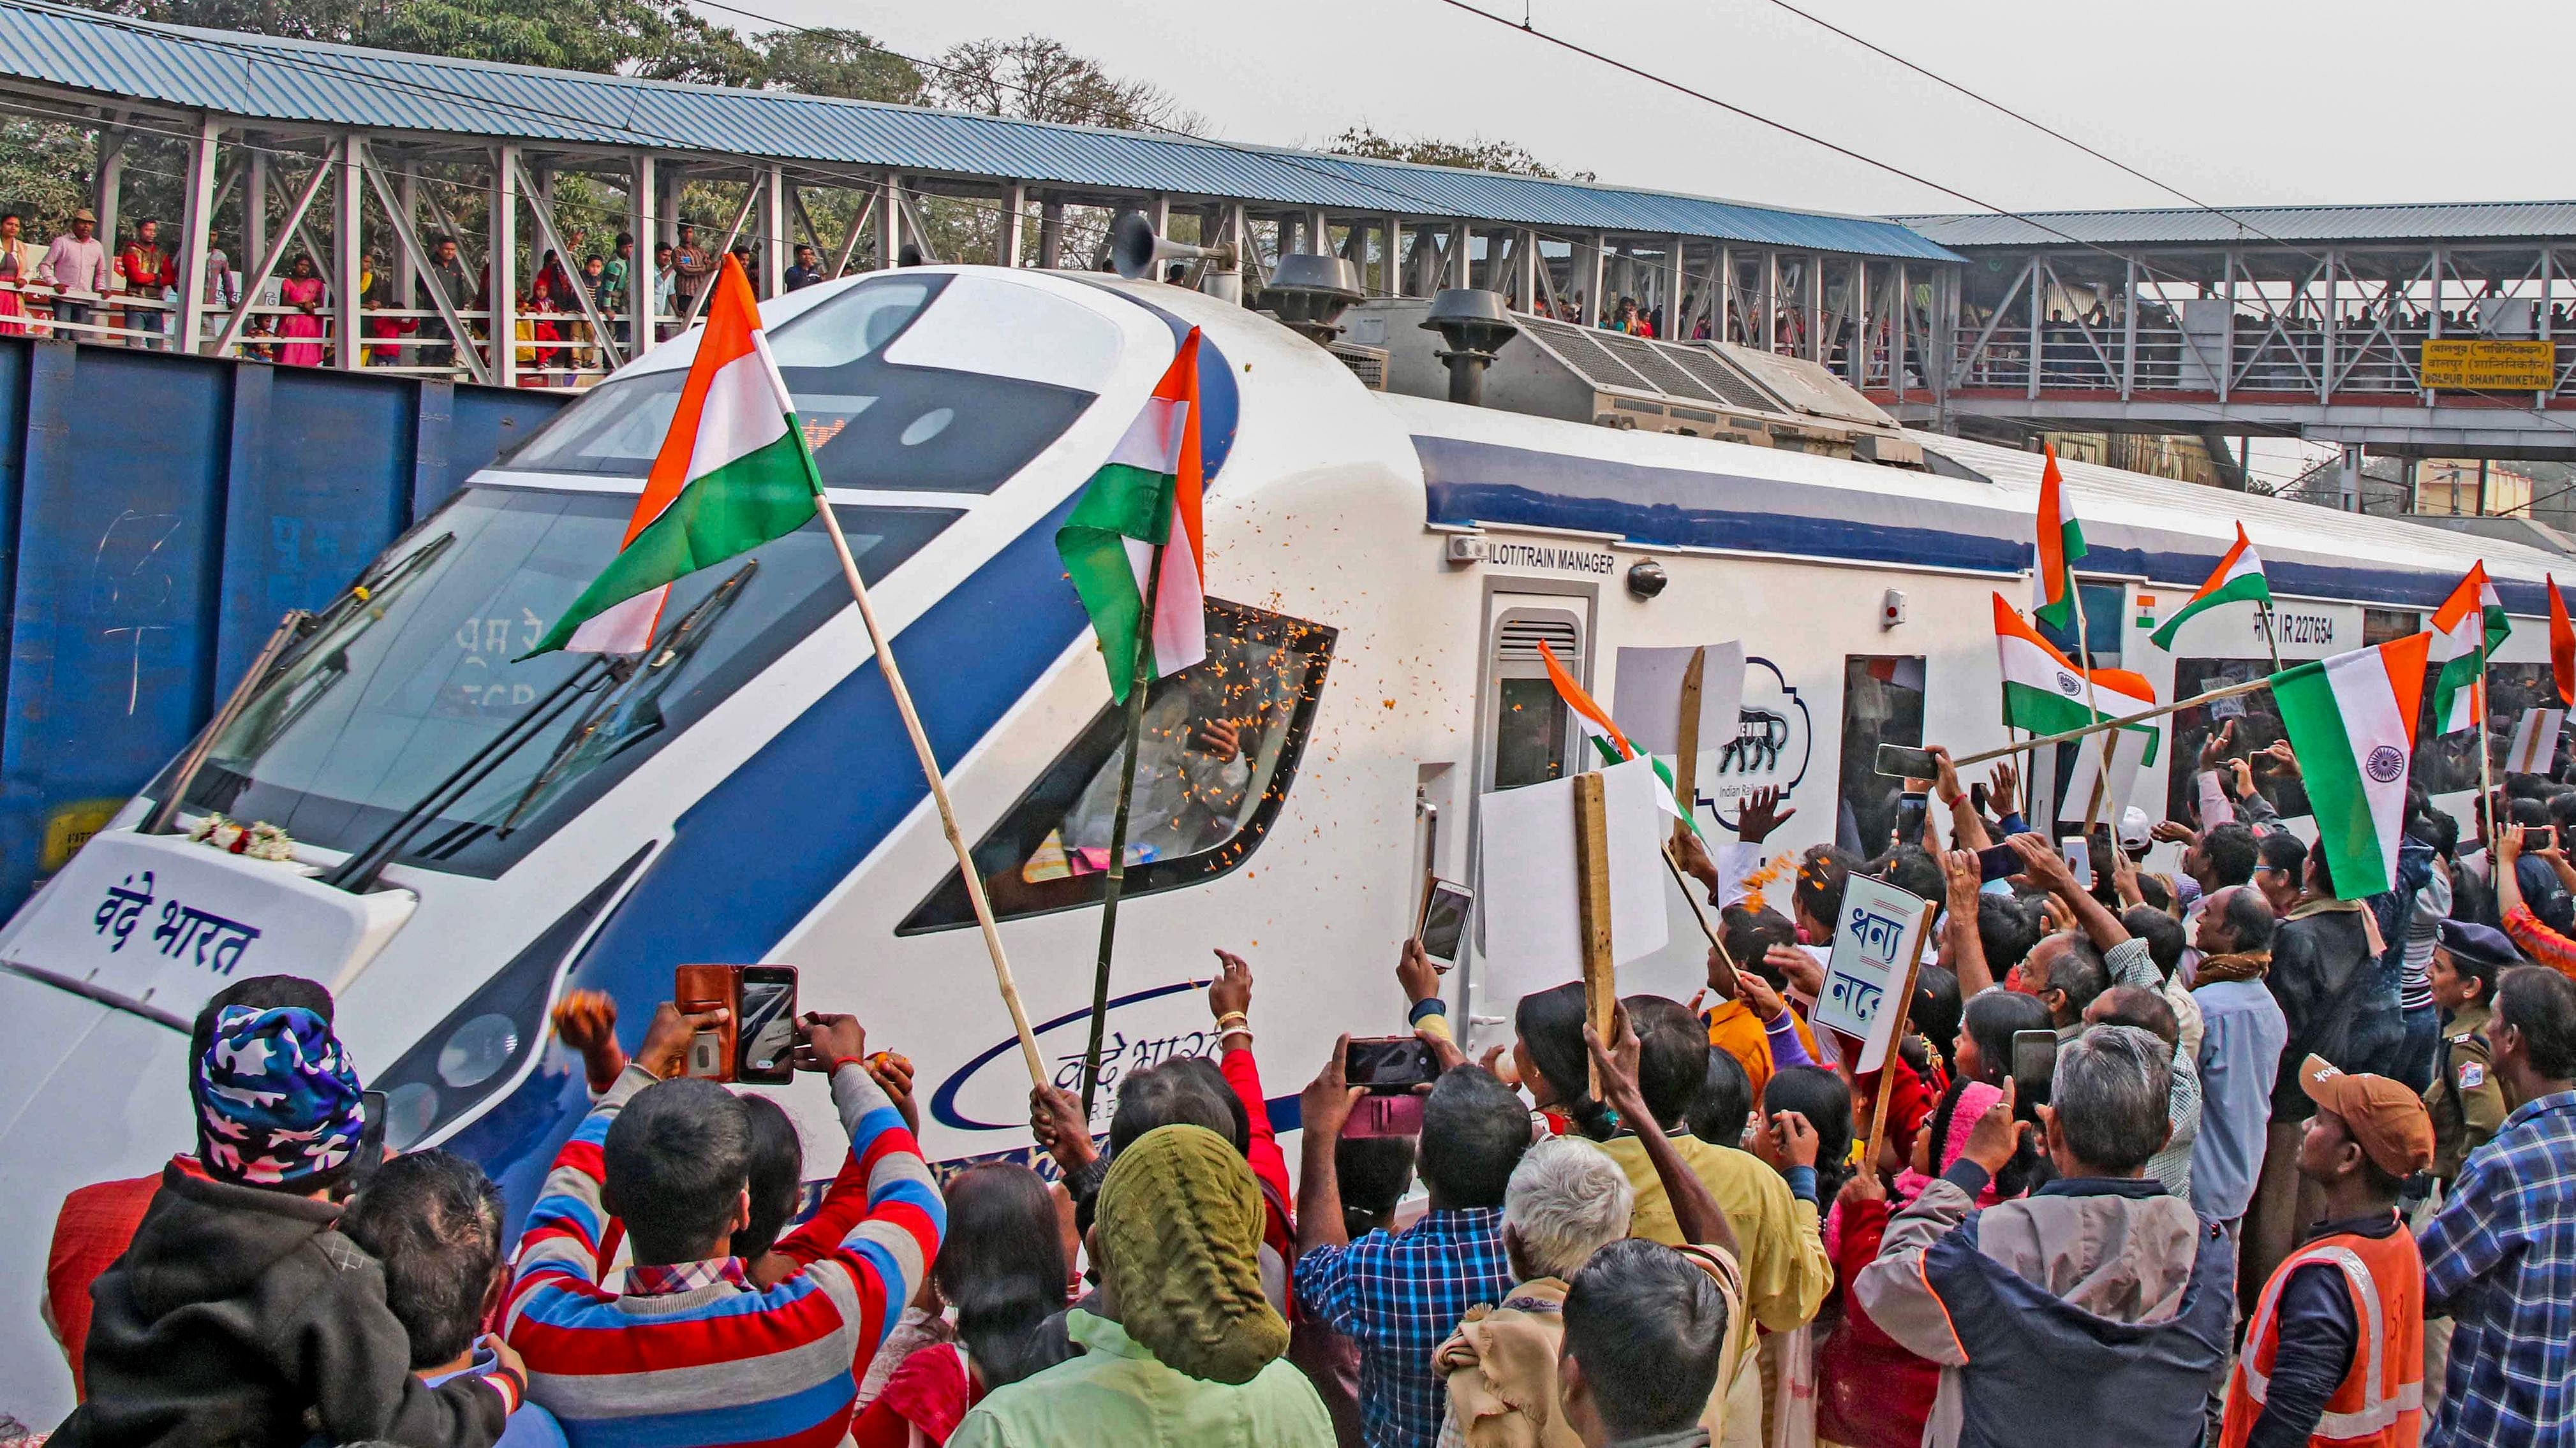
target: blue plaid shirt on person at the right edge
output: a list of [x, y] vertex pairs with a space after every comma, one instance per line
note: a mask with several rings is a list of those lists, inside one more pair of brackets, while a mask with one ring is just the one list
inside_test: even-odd
[[2576, 1422], [2576, 1092], [2506, 1116], [2416, 1244], [2424, 1311], [2458, 1319], [2427, 1443], [2555, 1443]]

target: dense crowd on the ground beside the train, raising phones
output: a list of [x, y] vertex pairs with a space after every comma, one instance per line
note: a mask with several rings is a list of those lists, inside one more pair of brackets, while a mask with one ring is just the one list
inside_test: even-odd
[[[196, 1149], [62, 1208], [52, 1440], [2563, 1440], [2576, 788], [2512, 778], [2491, 845], [2419, 796], [2398, 889], [2342, 899], [2228, 760], [2228, 817], [2128, 812], [2089, 881], [2009, 765], [1968, 794], [1935, 760], [1880, 858], [1767, 858], [1772, 794], [1680, 832], [1708, 989], [1607, 1031], [1564, 984], [1471, 1062], [1404, 943], [1352, 1025], [1427, 1080], [1352, 1085], [1342, 1036], [1293, 1123], [1224, 951], [1216, 1051], [1123, 1074], [1105, 1139], [1036, 1087], [1036, 1167], [938, 1180], [909, 1062], [804, 1015], [848, 1154], [801, 1221], [796, 1123], [685, 1074], [721, 1013], [665, 1002], [629, 1056], [572, 992], [592, 1105], [507, 1260], [471, 1162], [371, 1147], [330, 995], [237, 982], [191, 1041]], [[1937, 912], [1870, 1072], [1811, 1018], [1852, 876]]]

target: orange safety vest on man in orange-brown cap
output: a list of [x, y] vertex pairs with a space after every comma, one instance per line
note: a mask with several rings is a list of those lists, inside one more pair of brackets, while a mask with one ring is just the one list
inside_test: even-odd
[[2352, 1345], [2352, 1371], [2326, 1399], [2308, 1443], [2416, 1448], [2424, 1438], [2424, 1257], [2403, 1226], [2388, 1237], [2318, 1237], [2272, 1273], [2236, 1371], [2228, 1373], [2218, 1448], [2244, 1448], [2254, 1433], [2280, 1353], [2280, 1288], [2311, 1262], [2344, 1273], [2360, 1340]]

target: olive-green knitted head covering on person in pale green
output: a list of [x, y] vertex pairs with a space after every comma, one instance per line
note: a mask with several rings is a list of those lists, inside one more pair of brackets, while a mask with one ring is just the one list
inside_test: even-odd
[[1167, 1368], [1249, 1384], [1288, 1350], [1262, 1296], [1262, 1188], [1206, 1126], [1157, 1126], [1100, 1183], [1100, 1273], [1118, 1324]]

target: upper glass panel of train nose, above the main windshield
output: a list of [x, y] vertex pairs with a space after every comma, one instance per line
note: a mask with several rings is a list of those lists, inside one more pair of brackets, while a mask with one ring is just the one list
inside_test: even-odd
[[[935, 332], [989, 319], [971, 307], [956, 319], [940, 312], [938, 299], [953, 281], [940, 273], [881, 276], [770, 332], [770, 356], [796, 394], [824, 487], [992, 492], [1090, 407], [1095, 394], [1072, 386], [889, 361], [914, 327]], [[1064, 299], [1020, 291], [1012, 304], [1048, 345], [1115, 350], [1115, 327]], [[685, 381], [688, 368], [603, 381], [500, 466], [644, 477]]]

